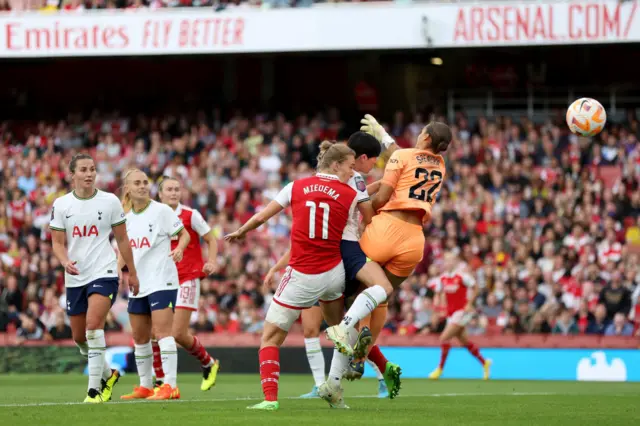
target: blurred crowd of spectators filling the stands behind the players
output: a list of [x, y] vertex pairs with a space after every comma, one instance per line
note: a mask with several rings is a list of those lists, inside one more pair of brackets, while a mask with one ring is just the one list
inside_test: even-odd
[[[397, 143], [409, 147], [426, 118], [397, 112], [383, 121]], [[434, 305], [432, 285], [444, 252], [453, 251], [481, 288], [471, 334], [640, 335], [635, 117], [593, 140], [568, 134], [561, 116], [543, 125], [526, 118], [475, 121], [458, 113], [451, 123], [455, 139], [424, 229], [424, 259], [390, 301], [384, 333], [442, 330], [445, 311]], [[319, 143], [346, 139], [344, 124], [336, 109], [298, 117], [94, 113], [86, 121], [2, 123], [0, 331], [20, 339], [71, 335], [48, 223], [53, 200], [70, 190], [73, 153], [88, 150], [98, 186], [117, 194], [121, 173], [131, 166], [154, 181], [179, 177], [188, 188], [183, 202], [200, 210], [221, 237], [288, 181], [313, 173]], [[381, 177], [384, 162], [383, 155], [369, 181]], [[219, 238], [219, 269], [202, 283], [195, 331], [262, 330], [273, 291], [262, 289], [262, 279], [287, 249], [289, 228], [290, 218], [280, 215], [242, 245]], [[128, 329], [126, 306], [121, 286], [107, 331]]]

